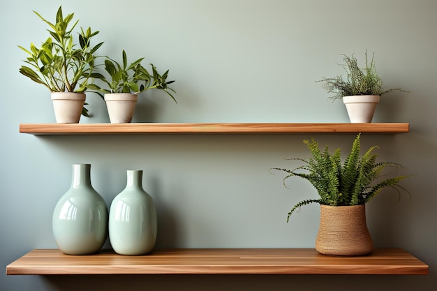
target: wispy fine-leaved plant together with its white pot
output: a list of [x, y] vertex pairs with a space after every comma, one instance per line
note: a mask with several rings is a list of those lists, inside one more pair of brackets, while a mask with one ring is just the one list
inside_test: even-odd
[[[333, 100], [343, 99], [346, 105], [350, 122], [352, 123], [369, 123], [373, 119], [373, 114], [378, 105], [380, 96], [392, 91], [404, 91], [400, 88], [384, 89], [383, 81], [376, 73], [374, 56], [369, 62], [367, 51], [364, 54], [366, 66], [360, 68], [357, 58], [354, 54], [348, 57], [343, 54], [343, 60], [346, 64], [340, 66], [346, 71], [346, 80], [341, 75], [332, 78], [323, 78], [317, 82], [323, 82], [322, 87], [328, 91]], [[406, 91], [404, 91], [406, 92]]]

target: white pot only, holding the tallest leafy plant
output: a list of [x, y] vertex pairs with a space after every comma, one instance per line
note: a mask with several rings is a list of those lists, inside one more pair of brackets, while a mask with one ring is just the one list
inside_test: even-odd
[[78, 124], [86, 95], [75, 92], [53, 92], [54, 117], [58, 124]]

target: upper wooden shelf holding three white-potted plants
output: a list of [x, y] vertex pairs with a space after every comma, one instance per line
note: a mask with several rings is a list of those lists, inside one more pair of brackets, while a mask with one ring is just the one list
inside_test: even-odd
[[408, 133], [408, 123], [371, 124], [20, 124], [33, 135]]

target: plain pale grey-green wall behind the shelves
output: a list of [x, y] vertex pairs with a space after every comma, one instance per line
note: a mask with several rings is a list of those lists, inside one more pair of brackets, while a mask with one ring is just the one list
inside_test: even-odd
[[[437, 1], [435, 0], [95, 0], [3, 1], [0, 12], [0, 290], [435, 290]], [[377, 247], [405, 248], [429, 276], [6, 276], [6, 265], [34, 248], [56, 248], [52, 211], [71, 183], [71, 164], [91, 163], [91, 181], [108, 205], [126, 170], [144, 170], [158, 208], [157, 248], [313, 248], [318, 206], [286, 223], [296, 202], [316, 197], [306, 181], [270, 167], [305, 157], [303, 139], [348, 151], [354, 135], [123, 135], [36, 137], [20, 123], [53, 123], [50, 94], [18, 73], [29, 47], [47, 38], [59, 5], [82, 27], [101, 31], [100, 54], [145, 57], [177, 80], [176, 105], [143, 94], [135, 121], [348, 122], [316, 83], [343, 73], [340, 54], [375, 52], [386, 87], [373, 121], [410, 122], [410, 133], [363, 135], [381, 161], [417, 174], [403, 185], [412, 202], [386, 190], [367, 206]], [[88, 94], [93, 117], [108, 122]], [[107, 244], [108, 246], [108, 244]]]

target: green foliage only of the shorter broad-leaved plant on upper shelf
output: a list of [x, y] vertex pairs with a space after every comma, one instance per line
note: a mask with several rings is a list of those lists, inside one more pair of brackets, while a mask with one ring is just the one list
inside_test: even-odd
[[108, 89], [101, 89], [96, 87], [98, 91], [104, 94], [110, 93], [132, 93], [139, 94], [149, 89], [160, 89], [167, 93], [173, 100], [175, 97], [170, 93], [176, 93], [175, 90], [168, 87], [168, 84], [172, 84], [175, 81], [167, 81], [168, 72], [166, 70], [163, 75], [160, 75], [153, 64], [151, 65], [152, 75], [149, 74], [147, 69], [141, 65], [141, 61], [144, 58], [134, 61], [128, 65], [128, 59], [126, 52], [122, 52], [122, 64], [117, 61], [106, 57], [105, 59], [105, 71], [109, 77], [101, 75], [100, 79], [108, 85]]

